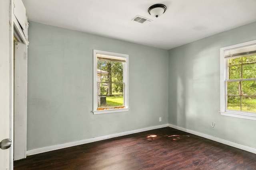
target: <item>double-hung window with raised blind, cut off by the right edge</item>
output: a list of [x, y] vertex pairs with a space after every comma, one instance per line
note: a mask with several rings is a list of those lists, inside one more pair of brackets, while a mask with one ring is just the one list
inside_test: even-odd
[[256, 41], [220, 49], [220, 113], [256, 120]]

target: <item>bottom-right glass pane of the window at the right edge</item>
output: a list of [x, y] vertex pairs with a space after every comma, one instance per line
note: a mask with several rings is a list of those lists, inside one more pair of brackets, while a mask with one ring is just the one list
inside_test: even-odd
[[256, 96], [242, 96], [242, 111], [256, 112]]

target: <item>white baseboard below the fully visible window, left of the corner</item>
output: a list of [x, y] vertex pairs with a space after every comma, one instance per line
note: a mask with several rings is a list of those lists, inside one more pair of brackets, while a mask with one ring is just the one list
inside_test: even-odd
[[102, 140], [105, 140], [105, 139], [120, 137], [120, 136], [124, 136], [124, 135], [130, 135], [130, 134], [133, 134], [133, 133], [139, 133], [139, 132], [144, 132], [144, 131], [150, 131], [150, 130], [153, 130], [153, 129], [168, 127], [168, 126], [169, 126], [169, 124], [146, 127], [146, 128], [136, 129], [136, 130], [132, 130], [132, 131], [114, 133], [114, 134], [111, 134], [111, 135], [105, 135], [105, 136], [94, 137], [94, 138], [90, 138], [90, 139], [84, 139], [84, 140], [80, 140], [80, 141], [74, 141], [74, 142], [63, 143], [63, 144], [59, 144], [59, 145], [53, 145], [53, 146], [49, 146], [49, 147], [31, 149], [31, 150], [27, 150], [27, 155], [39, 154], [39, 153], [43, 153], [43, 152], [49, 152], [49, 151], [52, 151], [52, 150], [74, 147], [74, 146], [77, 146], [77, 145], [83, 145], [83, 144], [86, 144], [86, 143], [102, 141]]

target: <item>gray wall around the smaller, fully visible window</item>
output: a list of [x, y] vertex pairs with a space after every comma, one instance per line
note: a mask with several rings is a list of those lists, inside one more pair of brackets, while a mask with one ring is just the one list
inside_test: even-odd
[[[29, 42], [28, 150], [168, 123], [167, 50], [35, 22]], [[93, 115], [93, 49], [129, 55], [128, 112]]]

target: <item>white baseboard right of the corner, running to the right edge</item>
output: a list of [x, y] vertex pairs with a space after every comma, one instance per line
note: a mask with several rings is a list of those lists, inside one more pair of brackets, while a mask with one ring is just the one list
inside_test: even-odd
[[238, 143], [226, 141], [226, 140], [220, 139], [218, 137], [213, 137], [213, 136], [210, 136], [210, 135], [206, 135], [204, 133], [200, 133], [200, 132], [192, 131], [192, 130], [189, 130], [189, 129], [185, 129], [183, 127], [179, 127], [179, 126], [176, 126], [176, 125], [169, 124], [168, 126], [174, 128], [174, 129], [178, 129], [180, 131], [188, 132], [188, 133], [191, 133], [193, 135], [204, 137], [204, 138], [210, 139], [212, 141], [223, 143], [225, 145], [229, 145], [231, 147], [235, 147], [235, 148], [238, 148], [238, 149], [246, 150], [248, 152], [252, 152], [252, 153], [256, 154], [256, 149], [255, 148], [251, 148], [251, 147], [247, 147], [245, 145], [241, 145], [241, 144], [238, 144]]

